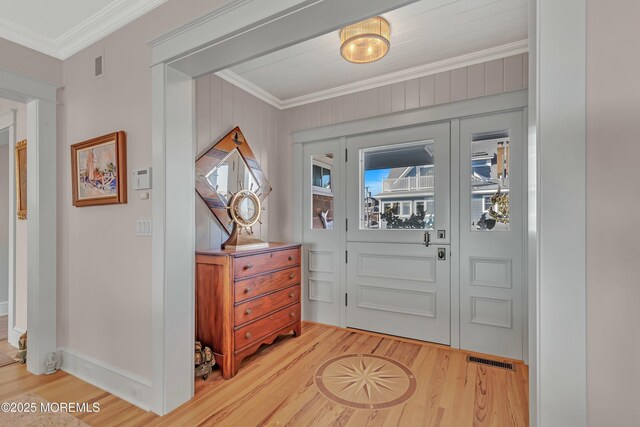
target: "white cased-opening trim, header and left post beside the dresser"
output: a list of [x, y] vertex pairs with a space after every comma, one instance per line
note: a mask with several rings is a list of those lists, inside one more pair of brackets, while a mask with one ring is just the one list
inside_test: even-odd
[[193, 78], [415, 1], [240, 0], [151, 42], [154, 412], [164, 415], [193, 397]]

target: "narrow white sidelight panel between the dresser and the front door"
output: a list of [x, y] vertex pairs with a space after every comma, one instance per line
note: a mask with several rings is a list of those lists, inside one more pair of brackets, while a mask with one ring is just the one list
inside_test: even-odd
[[339, 139], [303, 149], [303, 317], [340, 324], [344, 277], [344, 149]]

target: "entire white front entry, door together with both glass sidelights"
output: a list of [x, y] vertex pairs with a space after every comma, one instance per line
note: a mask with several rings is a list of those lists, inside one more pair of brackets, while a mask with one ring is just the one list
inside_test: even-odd
[[[382, 126], [375, 118], [354, 123], [356, 135], [332, 126], [296, 134], [305, 319], [527, 360], [521, 95], [445, 123], [399, 115], [388, 130], [369, 132]], [[329, 151], [344, 164], [330, 177], [342, 211], [335, 229], [317, 231], [312, 167]]]

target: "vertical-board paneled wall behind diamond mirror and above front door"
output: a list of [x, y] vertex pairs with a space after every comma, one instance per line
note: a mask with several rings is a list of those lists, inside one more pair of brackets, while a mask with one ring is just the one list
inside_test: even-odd
[[[200, 77], [196, 81], [198, 152], [234, 126], [242, 127], [274, 189], [265, 203], [263, 225], [256, 232], [263, 240], [290, 240], [292, 132], [520, 89], [526, 87], [527, 59], [526, 54], [515, 55], [282, 111], [215, 75]], [[200, 204], [196, 206], [198, 248], [217, 247], [226, 234]]]

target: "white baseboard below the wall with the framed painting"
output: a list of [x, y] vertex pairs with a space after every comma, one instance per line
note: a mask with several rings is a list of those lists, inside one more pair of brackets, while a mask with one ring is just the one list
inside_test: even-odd
[[145, 411], [150, 410], [150, 381], [70, 348], [58, 347], [58, 357], [63, 371]]

